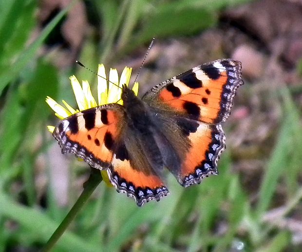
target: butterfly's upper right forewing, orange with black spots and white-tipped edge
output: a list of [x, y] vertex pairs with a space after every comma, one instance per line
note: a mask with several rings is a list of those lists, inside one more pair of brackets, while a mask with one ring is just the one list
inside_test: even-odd
[[162, 82], [142, 99], [161, 110], [173, 109], [190, 119], [217, 124], [229, 116], [242, 84], [241, 62], [219, 59]]

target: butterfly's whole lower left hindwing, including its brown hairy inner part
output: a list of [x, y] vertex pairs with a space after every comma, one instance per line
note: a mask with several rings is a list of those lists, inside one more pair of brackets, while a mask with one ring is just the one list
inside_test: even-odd
[[[126, 126], [127, 127], [127, 126]], [[118, 192], [135, 199], [138, 206], [169, 194], [162, 170], [152, 165], [144, 154], [146, 143], [132, 129], [126, 129], [107, 173]]]

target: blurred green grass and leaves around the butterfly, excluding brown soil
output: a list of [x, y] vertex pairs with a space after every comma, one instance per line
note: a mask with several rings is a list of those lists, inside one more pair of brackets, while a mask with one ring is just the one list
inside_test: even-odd
[[[155, 8], [153, 1], [93, 1], [102, 18], [101, 46], [87, 39], [81, 60], [89, 66], [99, 58], [115, 62], [118, 57], [113, 57], [113, 51], [122, 58], [152, 37], [193, 36], [215, 26], [217, 12], [230, 4], [226, 0], [187, 2], [163, 1]], [[44, 99], [65, 97], [66, 92], [71, 96], [69, 87], [65, 91], [70, 72], [79, 78], [95, 77], [83, 70], [60, 71], [46, 56], [38, 57], [38, 50], [68, 9], [58, 13], [29, 45], [37, 23], [33, 15], [36, 1], [1, 1], [0, 9], [0, 252], [35, 251], [42, 248], [77, 199], [71, 186], [70, 205], [60, 207], [51, 186], [44, 192], [37, 186], [39, 158], [49, 161], [48, 150], [55, 142], [46, 132], [46, 125], [55, 119]], [[290, 228], [282, 223], [294, 218], [291, 213], [299, 209], [302, 197], [298, 180], [301, 114], [287, 89], [273, 95], [283, 108], [283, 120], [264, 165], [256, 203], [242, 186], [242, 177], [232, 171], [236, 160], [227, 150], [219, 161], [219, 176], [187, 189], [169, 176], [169, 197], [142, 208], [101, 183], [53, 251], [220, 252], [240, 244], [246, 252], [298, 251]], [[89, 170], [82, 167], [72, 163], [71, 184]], [[48, 180], [49, 173], [44, 175]], [[285, 198], [273, 215], [281, 186]]]

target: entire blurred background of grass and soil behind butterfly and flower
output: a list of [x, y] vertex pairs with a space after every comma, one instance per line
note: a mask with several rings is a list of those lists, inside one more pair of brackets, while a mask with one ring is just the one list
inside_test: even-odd
[[[38, 251], [89, 167], [60, 154], [50, 96], [76, 107], [69, 76], [103, 62], [140, 94], [217, 58], [243, 62], [219, 176], [138, 208], [105, 183], [53, 251], [302, 251], [302, 4], [291, 0], [0, 1], [0, 252]], [[133, 81], [133, 80], [132, 80]]]

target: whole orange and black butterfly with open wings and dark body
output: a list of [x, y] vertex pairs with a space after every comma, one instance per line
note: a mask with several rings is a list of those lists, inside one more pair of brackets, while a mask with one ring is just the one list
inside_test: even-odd
[[221, 123], [243, 84], [241, 62], [219, 59], [152, 87], [141, 99], [126, 85], [123, 105], [106, 104], [61, 120], [61, 151], [106, 170], [117, 192], [138, 206], [169, 194], [164, 171], [184, 187], [218, 174], [225, 149]]

